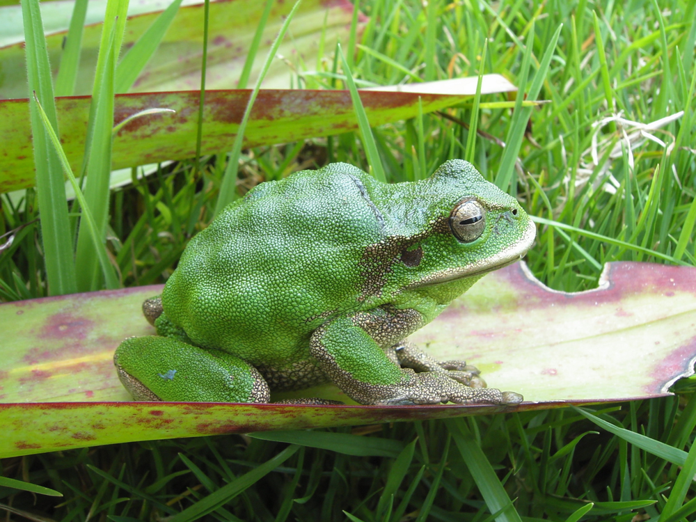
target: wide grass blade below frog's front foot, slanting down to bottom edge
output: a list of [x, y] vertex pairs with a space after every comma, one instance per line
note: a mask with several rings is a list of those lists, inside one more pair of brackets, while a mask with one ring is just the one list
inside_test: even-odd
[[493, 466], [466, 426], [466, 420], [463, 418], [448, 419], [445, 420], [445, 425], [454, 438], [461, 458], [464, 459], [466, 467], [469, 468], [469, 473], [476, 482], [489, 511], [491, 513], [500, 512], [496, 516], [496, 522], [522, 522], [516, 509], [512, 506], [512, 501], [503, 484], [500, 483], [498, 475], [493, 470]]

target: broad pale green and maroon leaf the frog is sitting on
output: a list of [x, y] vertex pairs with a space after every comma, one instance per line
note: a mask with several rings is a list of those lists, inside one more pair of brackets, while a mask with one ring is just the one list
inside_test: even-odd
[[[411, 336], [466, 358], [519, 406], [298, 406], [127, 402], [116, 346], [150, 335], [160, 285], [0, 304], [0, 457], [126, 441], [450, 418], [669, 395], [696, 358], [696, 268], [619, 262], [596, 290], [554, 292], [523, 264], [487, 275]], [[349, 402], [338, 388], [302, 393]]]

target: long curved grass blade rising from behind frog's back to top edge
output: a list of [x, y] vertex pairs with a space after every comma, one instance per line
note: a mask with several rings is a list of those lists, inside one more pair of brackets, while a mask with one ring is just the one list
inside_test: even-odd
[[280, 32], [278, 32], [278, 36], [276, 36], [276, 40], [271, 46], [271, 50], [266, 57], [266, 61], [263, 65], [261, 73], [259, 74], [258, 80], [256, 81], [256, 85], [254, 86], [253, 91], [251, 91], [251, 96], [246, 104], [246, 111], [244, 111], [244, 117], [242, 117], [242, 122], [239, 124], [239, 128], [237, 129], [235, 143], [232, 145], [232, 152], [230, 152], [230, 158], [225, 170], [225, 175], [223, 176], [220, 194], [215, 205], [214, 215], [219, 214], [223, 208], [232, 203], [232, 201], [234, 201], [237, 197], [237, 169], [239, 168], [239, 155], [242, 153], [242, 143], [244, 143], [244, 130], [246, 129], [246, 122], [248, 122], [249, 116], [251, 115], [251, 109], [261, 88], [261, 82], [263, 81], [264, 77], [266, 77], [266, 73], [271, 66], [271, 61], [273, 61], [276, 57], [276, 52], [278, 52], [280, 42], [283, 41], [283, 37], [285, 36], [287, 29], [290, 27], [290, 22], [292, 22], [292, 17], [294, 17], [298, 6], [299, 0], [295, 3], [287, 17], [285, 17], [285, 22], [283, 22], [283, 26], [280, 28]]

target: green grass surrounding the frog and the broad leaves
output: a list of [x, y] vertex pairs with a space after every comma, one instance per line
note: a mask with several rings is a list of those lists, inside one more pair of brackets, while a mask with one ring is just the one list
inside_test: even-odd
[[[445, 159], [470, 157], [537, 219], [527, 260], [557, 290], [594, 287], [610, 261], [695, 264], [696, 1], [422, 8], [387, 0], [361, 9], [370, 16], [363, 47], [355, 56], [344, 49], [358, 85], [499, 72], [521, 87], [512, 111], [474, 104], [448, 111], [464, 122], [477, 112], [478, 129], [505, 149], [437, 115], [372, 129], [388, 180], [418, 179]], [[341, 78], [344, 65], [332, 53], [296, 83], [331, 88]], [[550, 103], [522, 106], [523, 93]], [[367, 170], [360, 136], [242, 151], [237, 191], [329, 161]], [[171, 273], [183, 244], [212, 219], [226, 168], [223, 154], [200, 157], [111, 191], [106, 244], [125, 285]], [[32, 190], [22, 207], [1, 197], [0, 235], [35, 219], [35, 201]], [[47, 293], [37, 244], [32, 224], [0, 254], [0, 299]], [[3, 477], [64, 496], [0, 483], [0, 502], [11, 520], [688, 521], [696, 513], [696, 400], [688, 379], [675, 388], [674, 397], [582, 411], [6, 459]]]

